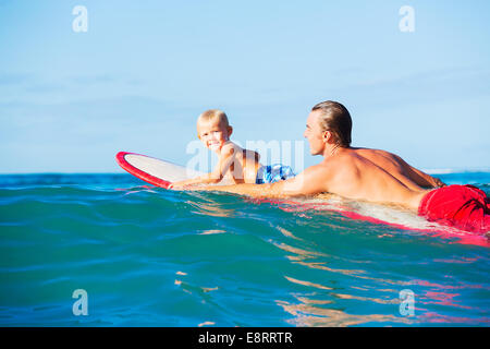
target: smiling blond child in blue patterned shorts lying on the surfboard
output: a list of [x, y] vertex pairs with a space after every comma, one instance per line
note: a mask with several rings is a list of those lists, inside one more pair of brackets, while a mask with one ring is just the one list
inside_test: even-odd
[[203, 112], [197, 119], [197, 136], [204, 145], [218, 154], [218, 165], [210, 173], [173, 182], [171, 189], [185, 185], [218, 183], [223, 179], [233, 183], [272, 183], [294, 177], [289, 166], [261, 166], [257, 152], [243, 149], [230, 141], [233, 128], [219, 109]]

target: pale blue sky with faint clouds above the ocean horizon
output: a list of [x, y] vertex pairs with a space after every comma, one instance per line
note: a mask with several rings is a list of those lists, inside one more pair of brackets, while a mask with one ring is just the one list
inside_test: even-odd
[[353, 146], [490, 168], [489, 16], [488, 1], [0, 0], [0, 173], [119, 172], [119, 151], [184, 165], [209, 108], [242, 144], [301, 141], [327, 99]]

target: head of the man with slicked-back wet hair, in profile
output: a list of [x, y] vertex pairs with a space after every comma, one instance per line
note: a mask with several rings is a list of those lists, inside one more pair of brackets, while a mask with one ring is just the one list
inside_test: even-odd
[[350, 147], [352, 119], [348, 110], [336, 101], [322, 101], [311, 108], [306, 121], [305, 137], [313, 155], [323, 154], [324, 147]]

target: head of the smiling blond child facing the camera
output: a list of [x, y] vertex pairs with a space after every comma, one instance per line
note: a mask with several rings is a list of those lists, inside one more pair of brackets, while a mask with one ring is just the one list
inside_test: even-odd
[[221, 149], [232, 132], [233, 128], [222, 110], [206, 110], [197, 118], [197, 137], [211, 151]]

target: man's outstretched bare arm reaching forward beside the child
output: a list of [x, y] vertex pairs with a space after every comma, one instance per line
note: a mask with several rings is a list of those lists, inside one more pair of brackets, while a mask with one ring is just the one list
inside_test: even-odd
[[196, 186], [188, 190], [222, 191], [253, 197], [305, 196], [327, 192], [327, 174], [324, 167], [316, 165], [294, 178], [275, 183]]

